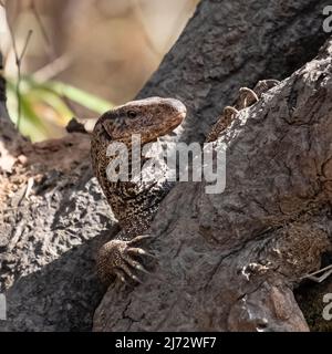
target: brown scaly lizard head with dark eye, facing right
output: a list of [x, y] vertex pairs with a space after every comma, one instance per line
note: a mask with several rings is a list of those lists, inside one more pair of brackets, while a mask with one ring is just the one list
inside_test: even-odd
[[94, 135], [108, 142], [129, 142], [139, 134], [143, 144], [174, 131], [185, 118], [186, 106], [175, 98], [149, 97], [128, 102], [104, 113], [94, 127]]

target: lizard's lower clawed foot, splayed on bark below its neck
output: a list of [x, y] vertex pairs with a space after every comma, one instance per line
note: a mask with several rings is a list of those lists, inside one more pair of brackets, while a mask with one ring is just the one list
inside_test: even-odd
[[98, 251], [97, 272], [103, 283], [108, 284], [114, 277], [126, 283], [127, 279], [142, 283], [142, 280], [134, 274], [134, 270], [149, 273], [133, 256], [147, 256], [155, 258], [154, 254], [142, 248], [135, 247], [136, 243], [152, 238], [149, 235], [141, 235], [129, 241], [112, 240], [105, 243]]

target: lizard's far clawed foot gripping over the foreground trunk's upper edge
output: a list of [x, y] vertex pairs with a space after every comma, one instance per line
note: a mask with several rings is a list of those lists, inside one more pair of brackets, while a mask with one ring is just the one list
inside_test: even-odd
[[222, 131], [225, 131], [229, 126], [229, 124], [232, 122], [240, 110], [247, 108], [258, 102], [263, 93], [277, 86], [278, 84], [278, 80], [262, 80], [256, 84], [253, 90], [241, 87], [239, 90], [239, 96], [236, 103], [234, 104], [234, 106], [226, 106], [224, 108], [221, 116], [218, 118], [217, 123], [212, 126], [211, 131], [207, 135], [206, 142], [215, 142], [222, 133]]

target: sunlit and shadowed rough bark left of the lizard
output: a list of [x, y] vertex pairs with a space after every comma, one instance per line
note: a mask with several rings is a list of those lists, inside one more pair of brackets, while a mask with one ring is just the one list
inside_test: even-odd
[[89, 137], [31, 144], [9, 121], [3, 80], [0, 92], [0, 331], [89, 331], [104, 292], [94, 253], [117, 231]]

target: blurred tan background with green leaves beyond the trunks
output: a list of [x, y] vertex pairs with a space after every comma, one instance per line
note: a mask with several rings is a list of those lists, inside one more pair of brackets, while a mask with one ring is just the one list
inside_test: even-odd
[[[1, 0], [8, 107], [33, 142], [131, 101], [199, 0]], [[91, 128], [94, 119], [86, 124]]]

